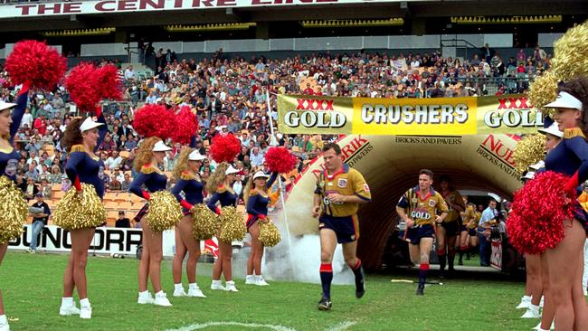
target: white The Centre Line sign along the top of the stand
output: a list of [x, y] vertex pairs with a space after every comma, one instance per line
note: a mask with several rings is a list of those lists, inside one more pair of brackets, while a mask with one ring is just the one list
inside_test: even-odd
[[[407, 1], [407, 0], [404, 0]], [[416, 0], [408, 0], [416, 1]], [[400, 0], [377, 0], [398, 3]], [[313, 5], [374, 4], [374, 0], [84, 0], [50, 3], [17, 3], [0, 6], [0, 19], [12, 17], [55, 16], [67, 14], [118, 14], [168, 10], [200, 10]]]

